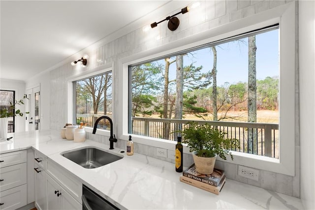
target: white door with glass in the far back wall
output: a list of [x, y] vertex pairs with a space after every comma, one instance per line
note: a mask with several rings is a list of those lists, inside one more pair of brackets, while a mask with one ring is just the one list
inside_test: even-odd
[[34, 87], [26, 91], [28, 105], [26, 108], [30, 113], [26, 118], [27, 131], [40, 130], [40, 87]]

